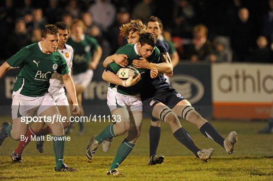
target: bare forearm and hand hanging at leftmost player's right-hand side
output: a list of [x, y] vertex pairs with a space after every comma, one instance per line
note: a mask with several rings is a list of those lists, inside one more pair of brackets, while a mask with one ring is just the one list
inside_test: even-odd
[[72, 80], [72, 77], [70, 74], [65, 74], [62, 76], [65, 88], [73, 102], [72, 112], [73, 114], [79, 115], [80, 114], [80, 108], [78, 106], [78, 100], [76, 95], [76, 89], [74, 82]]

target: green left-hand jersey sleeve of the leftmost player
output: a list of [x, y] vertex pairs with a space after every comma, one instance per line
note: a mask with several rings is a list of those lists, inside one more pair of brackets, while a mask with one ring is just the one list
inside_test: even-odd
[[28, 57], [29, 57], [29, 52], [27, 48], [22, 48], [20, 51], [18, 51], [15, 55], [13, 55], [12, 57], [10, 57], [7, 60], [7, 63], [11, 66], [11, 67], [22, 67]]

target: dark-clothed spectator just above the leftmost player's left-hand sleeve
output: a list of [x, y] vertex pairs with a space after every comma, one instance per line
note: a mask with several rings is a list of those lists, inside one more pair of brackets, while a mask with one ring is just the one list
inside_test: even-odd
[[7, 55], [11, 57], [23, 46], [30, 44], [30, 36], [26, 30], [26, 24], [23, 19], [18, 19], [15, 24], [14, 33], [12, 33], [7, 42]]

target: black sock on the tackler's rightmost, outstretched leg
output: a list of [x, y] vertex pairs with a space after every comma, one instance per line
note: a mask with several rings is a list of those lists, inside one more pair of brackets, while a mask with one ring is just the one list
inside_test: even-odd
[[209, 123], [205, 123], [200, 129], [200, 132], [207, 138], [212, 139], [218, 143], [221, 147], [223, 146], [224, 138], [217, 132], [217, 130]]

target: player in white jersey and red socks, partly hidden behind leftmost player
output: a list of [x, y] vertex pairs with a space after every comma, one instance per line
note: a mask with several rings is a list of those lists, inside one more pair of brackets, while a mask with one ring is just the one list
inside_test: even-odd
[[[68, 38], [68, 27], [64, 22], [57, 22], [55, 26], [58, 28], [59, 32], [59, 43], [57, 47], [57, 51], [63, 55], [66, 60], [66, 64], [68, 66], [69, 72], [71, 73], [72, 68], [72, 60], [73, 60], [73, 48], [66, 44]], [[70, 117], [70, 109], [69, 103], [65, 94], [64, 90], [64, 82], [62, 76], [57, 72], [53, 73], [50, 79], [50, 87], [49, 92], [52, 95], [54, 101], [56, 102], [60, 114], [67, 118]], [[65, 120], [63, 122], [64, 129], [69, 126], [70, 122]], [[22, 161], [22, 152], [25, 146], [30, 142], [30, 137], [36, 135], [40, 137], [42, 135], [47, 135], [52, 133], [50, 127], [45, 125], [42, 129], [40, 128], [40, 124], [33, 123], [30, 127], [28, 127], [26, 137], [29, 138], [26, 141], [20, 141], [18, 147], [12, 152], [11, 158], [14, 162], [21, 162]], [[44, 140], [36, 140], [36, 148], [37, 150], [42, 153], [43, 152], [43, 143]]]

